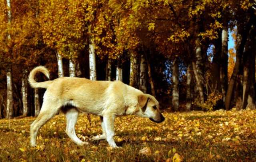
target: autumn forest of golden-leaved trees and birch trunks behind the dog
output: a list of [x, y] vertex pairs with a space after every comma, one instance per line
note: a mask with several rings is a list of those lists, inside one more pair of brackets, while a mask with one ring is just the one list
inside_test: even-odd
[[255, 109], [255, 56], [256, 0], [0, 0], [0, 118], [39, 114], [39, 65], [121, 80], [170, 111]]

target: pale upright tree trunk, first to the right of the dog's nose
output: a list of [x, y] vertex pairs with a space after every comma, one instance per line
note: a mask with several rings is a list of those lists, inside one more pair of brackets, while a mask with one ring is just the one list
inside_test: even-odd
[[173, 71], [172, 71], [172, 107], [174, 111], [179, 110], [179, 63], [178, 58], [173, 60]]

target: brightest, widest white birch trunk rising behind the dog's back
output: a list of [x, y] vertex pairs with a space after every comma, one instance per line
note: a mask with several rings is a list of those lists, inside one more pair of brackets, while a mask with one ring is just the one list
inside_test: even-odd
[[90, 44], [89, 44], [89, 66], [90, 66], [90, 80], [97, 80], [96, 56], [95, 56], [95, 45], [93, 41], [93, 36], [91, 36]]

